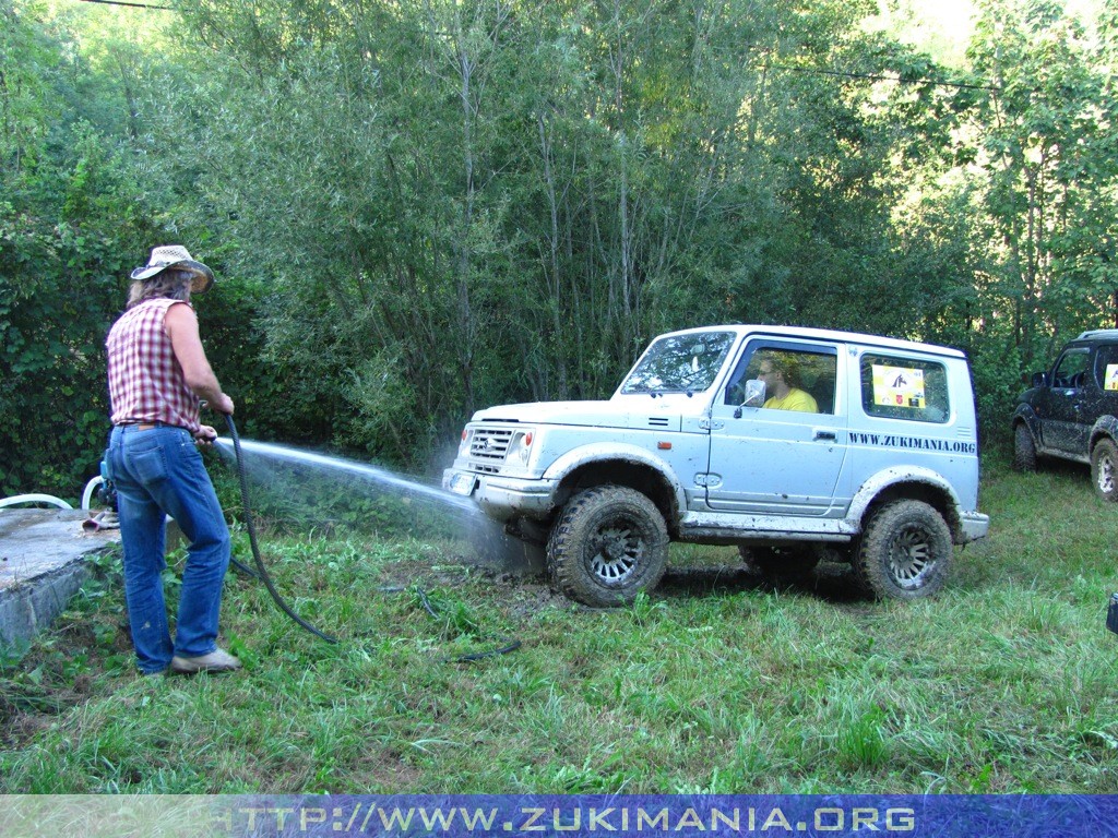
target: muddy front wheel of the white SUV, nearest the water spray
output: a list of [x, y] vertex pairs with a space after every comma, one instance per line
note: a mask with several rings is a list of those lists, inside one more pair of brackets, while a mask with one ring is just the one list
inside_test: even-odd
[[667, 526], [647, 497], [625, 486], [596, 486], [563, 507], [548, 540], [552, 583], [595, 607], [633, 602], [667, 566]]

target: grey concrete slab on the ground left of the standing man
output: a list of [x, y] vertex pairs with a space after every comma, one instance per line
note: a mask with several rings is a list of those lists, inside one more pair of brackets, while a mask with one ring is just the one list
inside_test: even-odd
[[111, 550], [120, 530], [88, 533], [82, 510], [0, 510], [0, 647], [26, 644], [69, 603], [85, 560]]

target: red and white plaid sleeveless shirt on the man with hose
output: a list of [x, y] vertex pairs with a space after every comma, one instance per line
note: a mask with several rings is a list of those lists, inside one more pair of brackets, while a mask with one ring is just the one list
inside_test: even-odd
[[187, 387], [164, 328], [178, 299], [146, 299], [113, 324], [108, 350], [108, 399], [113, 425], [165, 422], [197, 434], [199, 399]]

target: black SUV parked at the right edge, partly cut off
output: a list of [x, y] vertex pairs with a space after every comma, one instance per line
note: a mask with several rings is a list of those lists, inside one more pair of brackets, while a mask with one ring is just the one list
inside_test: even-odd
[[1099, 497], [1118, 501], [1118, 328], [1083, 332], [1051, 372], [1033, 373], [1013, 413], [1013, 464], [1038, 456], [1090, 463]]

